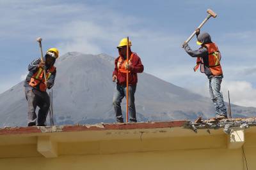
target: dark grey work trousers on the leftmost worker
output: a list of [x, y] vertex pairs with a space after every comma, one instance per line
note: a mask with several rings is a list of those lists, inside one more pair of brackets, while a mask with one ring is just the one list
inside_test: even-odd
[[[50, 106], [50, 97], [47, 92], [41, 92], [33, 87], [25, 87], [25, 95], [28, 101], [28, 126], [44, 126]], [[36, 117], [37, 106], [40, 108], [38, 117]]]

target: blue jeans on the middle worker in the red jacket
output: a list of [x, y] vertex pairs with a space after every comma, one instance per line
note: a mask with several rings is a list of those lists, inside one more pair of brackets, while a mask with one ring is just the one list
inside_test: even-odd
[[[135, 92], [136, 92], [136, 85], [129, 85], [128, 110], [129, 110], [130, 122], [137, 122], [136, 110], [135, 110], [135, 104], [134, 104]], [[116, 114], [116, 122], [120, 122], [120, 123], [124, 122], [122, 109], [121, 109], [121, 102], [124, 97], [126, 97], [126, 86], [116, 84], [114, 96], [113, 96], [113, 108]]]

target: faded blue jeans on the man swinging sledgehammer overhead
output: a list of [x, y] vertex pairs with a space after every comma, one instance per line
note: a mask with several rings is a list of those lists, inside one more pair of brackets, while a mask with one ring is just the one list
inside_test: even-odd
[[227, 109], [223, 101], [223, 96], [220, 92], [221, 81], [222, 76], [214, 76], [209, 79], [209, 91], [215, 106], [216, 117], [220, 115], [227, 117]]

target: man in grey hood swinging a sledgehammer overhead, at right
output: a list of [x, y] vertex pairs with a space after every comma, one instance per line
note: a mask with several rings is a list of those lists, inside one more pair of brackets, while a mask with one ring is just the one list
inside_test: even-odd
[[188, 43], [184, 43], [183, 48], [191, 57], [197, 57], [194, 71], [200, 67], [200, 71], [209, 79], [209, 92], [215, 106], [216, 118], [218, 120], [227, 118], [227, 109], [220, 92], [223, 78], [220, 65], [221, 53], [207, 32], [200, 33], [200, 29], [196, 29], [196, 37], [198, 39], [196, 43], [201, 45], [198, 50], [191, 50]]

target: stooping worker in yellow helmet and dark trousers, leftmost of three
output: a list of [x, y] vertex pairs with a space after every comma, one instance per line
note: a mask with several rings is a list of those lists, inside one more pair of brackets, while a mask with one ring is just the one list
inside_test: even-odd
[[[57, 48], [47, 50], [44, 61], [33, 60], [28, 66], [28, 76], [24, 81], [25, 95], [28, 101], [28, 126], [45, 126], [45, 120], [50, 106], [50, 97], [46, 89], [51, 89], [56, 76], [55, 60], [59, 57]], [[44, 78], [44, 69], [46, 80]], [[39, 107], [36, 117], [36, 107]], [[37, 120], [37, 121], [36, 121]]]

